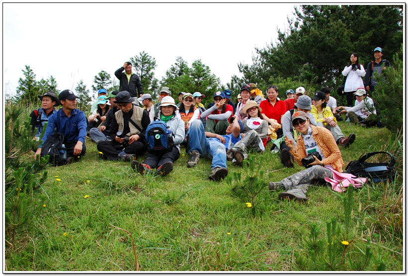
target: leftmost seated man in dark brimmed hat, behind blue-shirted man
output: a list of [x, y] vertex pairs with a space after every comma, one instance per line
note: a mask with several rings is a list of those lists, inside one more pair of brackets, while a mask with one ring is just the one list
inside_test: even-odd
[[31, 135], [34, 134], [34, 129], [37, 128], [37, 133], [35, 134], [36, 139], [40, 137], [40, 133], [44, 127], [45, 122], [53, 115], [57, 110], [55, 106], [59, 106], [60, 103], [54, 92], [48, 91], [42, 96], [38, 96], [41, 101], [41, 107], [31, 112]]

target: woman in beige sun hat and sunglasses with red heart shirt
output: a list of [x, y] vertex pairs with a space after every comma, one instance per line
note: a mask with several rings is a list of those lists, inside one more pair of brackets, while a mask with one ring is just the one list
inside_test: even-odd
[[248, 101], [242, 111], [248, 116], [248, 119], [242, 121], [243, 134], [241, 134], [241, 139], [227, 150], [227, 160], [238, 166], [242, 166], [243, 160], [248, 158], [246, 152], [248, 148], [258, 152], [265, 150], [262, 140], [268, 134], [268, 122], [263, 120], [262, 108], [255, 101]]

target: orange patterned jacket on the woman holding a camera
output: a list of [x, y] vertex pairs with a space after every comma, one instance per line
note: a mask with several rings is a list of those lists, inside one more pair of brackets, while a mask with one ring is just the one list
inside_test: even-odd
[[[336, 171], [342, 172], [344, 162], [341, 158], [341, 152], [338, 148], [333, 135], [328, 129], [310, 125], [313, 139], [316, 141], [325, 158], [322, 160], [324, 165], [331, 165]], [[307, 156], [303, 135], [298, 137], [298, 145], [291, 149], [291, 153], [299, 166], [302, 166], [302, 158]]]

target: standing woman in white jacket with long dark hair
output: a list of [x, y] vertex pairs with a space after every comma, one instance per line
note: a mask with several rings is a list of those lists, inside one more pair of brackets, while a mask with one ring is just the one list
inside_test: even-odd
[[353, 106], [353, 93], [356, 92], [358, 87], [364, 86], [362, 77], [366, 75], [366, 70], [360, 64], [356, 53], [351, 54], [349, 66], [344, 67], [341, 73], [346, 78], [344, 93], [347, 98], [347, 106], [351, 107]]

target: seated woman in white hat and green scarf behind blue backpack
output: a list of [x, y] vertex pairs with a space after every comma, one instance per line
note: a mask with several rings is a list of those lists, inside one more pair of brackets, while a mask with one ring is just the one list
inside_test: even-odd
[[131, 166], [141, 174], [152, 172], [156, 168], [156, 173], [165, 176], [173, 170], [173, 163], [180, 157], [180, 144], [185, 137], [184, 122], [177, 116], [176, 111], [179, 109], [171, 96], [165, 96], [158, 106], [158, 120], [163, 121], [170, 127], [173, 132], [174, 146], [171, 151], [165, 153], [148, 152], [143, 162], [133, 160]]

